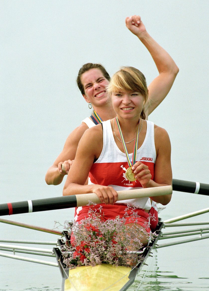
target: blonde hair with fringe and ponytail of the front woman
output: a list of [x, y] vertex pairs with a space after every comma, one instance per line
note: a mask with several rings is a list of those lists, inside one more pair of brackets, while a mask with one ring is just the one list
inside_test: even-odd
[[[144, 103], [148, 98], [147, 82], [144, 74], [133, 67], [121, 67], [111, 78], [106, 88], [108, 95], [112, 92], [140, 92], [144, 96]], [[142, 119], [145, 119], [144, 107], [141, 112]]]

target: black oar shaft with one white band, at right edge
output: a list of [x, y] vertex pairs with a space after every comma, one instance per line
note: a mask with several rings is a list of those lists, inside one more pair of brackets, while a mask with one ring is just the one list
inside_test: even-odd
[[209, 184], [173, 179], [173, 191], [209, 195]]

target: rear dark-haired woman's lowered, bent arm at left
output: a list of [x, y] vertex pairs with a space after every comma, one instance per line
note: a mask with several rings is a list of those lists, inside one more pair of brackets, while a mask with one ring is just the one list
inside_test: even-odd
[[[78, 143], [86, 129], [88, 129], [87, 125], [82, 123], [79, 127], [74, 129], [71, 134], [69, 134], [67, 140], [65, 141], [62, 152], [60, 155], [58, 155], [53, 165], [46, 173], [45, 181], [48, 185], [60, 184], [64, 176], [67, 175], [69, 168], [75, 158]], [[62, 164], [65, 166], [65, 171], [63, 171], [61, 168]]]

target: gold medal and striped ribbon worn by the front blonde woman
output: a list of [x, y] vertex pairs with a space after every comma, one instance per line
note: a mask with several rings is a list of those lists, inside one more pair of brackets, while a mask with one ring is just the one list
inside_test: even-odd
[[[123, 148], [124, 148], [126, 159], [128, 161], [128, 166], [129, 166], [129, 168], [126, 170], [126, 178], [129, 181], [133, 182], [133, 181], [136, 180], [136, 178], [134, 177], [135, 174], [133, 173], [132, 166], [136, 162], [137, 147], [138, 147], [139, 124], [138, 124], [137, 133], [136, 133], [135, 144], [134, 144], [134, 147], [133, 147], [133, 156], [132, 156], [132, 162], [131, 162], [131, 159], [130, 159], [130, 157], [128, 155], [126, 144], [125, 144], [125, 141], [124, 141], [124, 138], [123, 138], [123, 134], [122, 134], [122, 131], [121, 131], [121, 128], [120, 128], [119, 120], [118, 120], [117, 117], [115, 117], [115, 120], [116, 120], [116, 123], [117, 123], [117, 127], [118, 127], [118, 130], [119, 130], [119, 134], [120, 134], [120, 137], [121, 137], [121, 141], [122, 141], [122, 144], [123, 144]], [[139, 123], [140, 123], [140, 120], [139, 120]]]

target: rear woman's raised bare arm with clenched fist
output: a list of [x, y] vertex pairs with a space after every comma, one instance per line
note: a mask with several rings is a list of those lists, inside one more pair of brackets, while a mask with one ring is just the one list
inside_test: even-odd
[[126, 26], [148, 49], [159, 72], [148, 86], [149, 97], [145, 104], [145, 114], [149, 116], [169, 93], [179, 69], [172, 57], [146, 31], [140, 16], [127, 17]]

